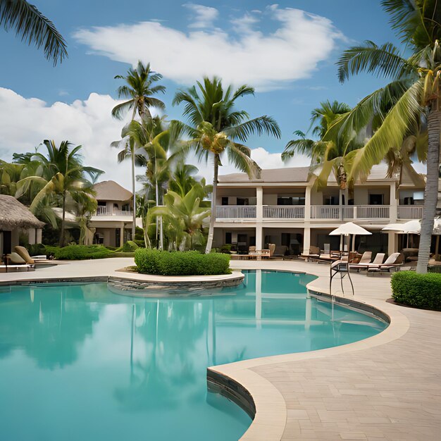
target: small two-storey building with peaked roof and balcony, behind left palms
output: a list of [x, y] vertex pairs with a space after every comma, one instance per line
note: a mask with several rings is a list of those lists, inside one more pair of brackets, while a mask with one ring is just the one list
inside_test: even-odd
[[97, 192], [97, 213], [90, 219], [94, 243], [106, 247], [122, 247], [132, 236], [132, 192], [113, 180], [94, 185]]

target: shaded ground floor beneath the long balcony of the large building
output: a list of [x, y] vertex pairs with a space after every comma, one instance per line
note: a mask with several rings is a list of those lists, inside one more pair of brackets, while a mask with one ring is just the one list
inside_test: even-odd
[[[385, 225], [360, 224], [372, 235], [357, 236], [354, 243], [343, 243], [340, 236], [330, 236], [329, 233], [340, 224], [317, 225], [313, 227], [283, 225], [221, 225], [218, 223], [214, 230], [213, 247], [228, 245], [237, 250], [239, 254], [247, 254], [249, 247], [268, 249], [268, 244], [275, 244], [277, 255], [309, 254], [310, 247], [325, 249], [325, 244], [330, 244], [330, 249], [338, 251], [354, 247], [360, 253], [372, 251], [376, 253], [392, 254], [403, 251], [405, 256], [416, 256], [418, 253], [419, 236], [405, 235], [397, 232], [383, 232]], [[436, 237], [433, 237], [431, 251], [434, 253]]]

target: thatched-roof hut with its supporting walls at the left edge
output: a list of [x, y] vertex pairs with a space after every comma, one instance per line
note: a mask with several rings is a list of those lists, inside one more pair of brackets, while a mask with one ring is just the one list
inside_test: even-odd
[[30, 244], [41, 244], [43, 226], [15, 197], [0, 194], [0, 260], [19, 245], [20, 232], [27, 232]]

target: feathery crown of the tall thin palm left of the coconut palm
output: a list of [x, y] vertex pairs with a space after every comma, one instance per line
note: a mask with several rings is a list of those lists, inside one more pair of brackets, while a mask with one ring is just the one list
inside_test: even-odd
[[160, 73], [153, 72], [150, 69], [150, 63], [144, 66], [141, 61], [138, 61], [136, 69], [129, 69], [127, 75], [116, 75], [116, 80], [125, 80], [127, 82], [127, 85], [118, 87], [118, 98], [128, 100], [113, 107], [112, 116], [122, 119], [125, 113], [132, 110], [132, 120], [134, 120], [136, 113], [141, 118], [144, 116], [151, 118], [149, 107], [164, 110], [166, 105], [163, 104], [163, 101], [152, 96], [159, 92], [166, 92], [165, 86], [154, 85], [161, 78], [162, 75]]

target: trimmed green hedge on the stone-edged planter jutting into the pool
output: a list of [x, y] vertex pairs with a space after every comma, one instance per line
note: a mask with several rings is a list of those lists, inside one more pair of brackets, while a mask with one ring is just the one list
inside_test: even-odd
[[159, 251], [139, 248], [135, 251], [138, 273], [154, 275], [230, 274], [228, 254], [201, 254], [198, 251]]

